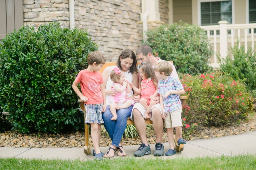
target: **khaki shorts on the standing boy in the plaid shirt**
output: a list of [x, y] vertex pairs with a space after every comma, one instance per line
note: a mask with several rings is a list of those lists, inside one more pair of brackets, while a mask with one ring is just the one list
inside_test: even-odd
[[181, 112], [182, 112], [182, 107], [174, 110], [171, 113], [168, 112], [166, 114], [166, 119], [164, 119], [164, 127], [172, 128], [172, 127], [182, 126]]

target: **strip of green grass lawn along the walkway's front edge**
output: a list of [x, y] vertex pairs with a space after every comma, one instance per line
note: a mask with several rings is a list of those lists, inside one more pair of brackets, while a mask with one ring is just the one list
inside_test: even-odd
[[[170, 157], [171, 158], [171, 157]], [[103, 161], [0, 158], [0, 169], [256, 169], [255, 155], [174, 159], [117, 158]]]

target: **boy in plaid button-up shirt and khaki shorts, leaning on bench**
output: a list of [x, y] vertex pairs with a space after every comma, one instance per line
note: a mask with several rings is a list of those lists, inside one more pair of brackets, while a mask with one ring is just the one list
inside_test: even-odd
[[154, 67], [156, 77], [158, 78], [158, 91], [160, 94], [160, 104], [162, 108], [162, 117], [164, 126], [167, 129], [170, 149], [165, 153], [167, 156], [176, 154], [174, 148], [173, 128], [175, 127], [177, 143], [186, 144], [182, 138], [182, 103], [179, 99], [180, 94], [184, 94], [184, 88], [179, 79], [171, 76], [173, 67], [168, 61], [162, 61]]

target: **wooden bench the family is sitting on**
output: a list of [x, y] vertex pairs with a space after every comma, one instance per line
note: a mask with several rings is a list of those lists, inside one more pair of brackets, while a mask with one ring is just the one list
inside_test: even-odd
[[[173, 63], [173, 61], [170, 61], [171, 63]], [[102, 73], [103, 70], [106, 68], [106, 67], [109, 67], [109, 66], [113, 66], [115, 65], [116, 62], [108, 62], [108, 63], [105, 63], [103, 66], [102, 66], [102, 69], [100, 70], [100, 72]], [[138, 65], [140, 65], [141, 63], [137, 63]], [[179, 96], [180, 100], [182, 101], [182, 107], [185, 105], [185, 101], [187, 99], [187, 96]], [[80, 108], [83, 110], [84, 112], [84, 119], [85, 119], [85, 106], [84, 106], [84, 102], [81, 100], [81, 99], [78, 99], [78, 102], [80, 103]], [[152, 124], [152, 120], [145, 120], [146, 124]], [[130, 120], [130, 118], [127, 119], [127, 124], [134, 124], [134, 122], [132, 120]], [[89, 154], [90, 153], [90, 145], [91, 145], [91, 138], [90, 138], [90, 133], [89, 133], [89, 125], [87, 125], [86, 123], [84, 123], [84, 134], [85, 134], [85, 145], [83, 147], [83, 151], [85, 154]], [[175, 138], [175, 135], [174, 135], [174, 141], [175, 141], [175, 149], [176, 151], [183, 151], [183, 148], [184, 148], [184, 144], [180, 144], [179, 146], [177, 145], [177, 139]]]

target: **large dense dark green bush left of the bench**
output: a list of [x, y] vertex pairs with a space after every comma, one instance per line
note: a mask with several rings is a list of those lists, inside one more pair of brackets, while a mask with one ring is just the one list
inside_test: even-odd
[[0, 44], [0, 105], [13, 129], [54, 132], [83, 127], [71, 86], [87, 55], [97, 50], [86, 31], [59, 23], [23, 26]]

